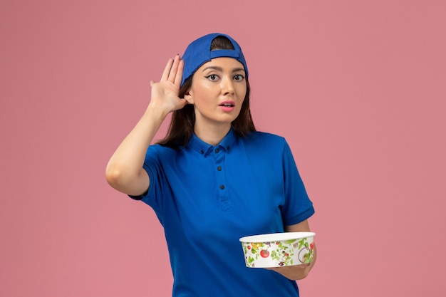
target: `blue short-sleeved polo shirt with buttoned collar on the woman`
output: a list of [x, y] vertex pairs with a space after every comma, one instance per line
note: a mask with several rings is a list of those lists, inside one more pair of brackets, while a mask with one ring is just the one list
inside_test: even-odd
[[296, 281], [247, 268], [239, 238], [284, 231], [314, 213], [283, 137], [230, 130], [217, 146], [193, 135], [174, 150], [151, 145], [142, 201], [165, 230], [172, 296], [299, 296]]

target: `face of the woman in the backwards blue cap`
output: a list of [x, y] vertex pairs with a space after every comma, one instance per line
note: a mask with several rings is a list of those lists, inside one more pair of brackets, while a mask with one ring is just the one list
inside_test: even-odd
[[243, 64], [234, 58], [214, 58], [195, 71], [185, 95], [195, 108], [195, 126], [230, 127], [247, 93], [245, 75]]

